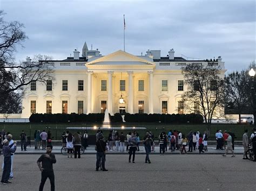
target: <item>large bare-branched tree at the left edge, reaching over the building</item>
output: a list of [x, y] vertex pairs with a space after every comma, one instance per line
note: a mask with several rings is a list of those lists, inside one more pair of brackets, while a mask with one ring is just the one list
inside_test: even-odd
[[0, 113], [5, 114], [21, 111], [23, 88], [35, 81], [46, 83], [52, 79], [53, 70], [45, 61], [47, 56], [38, 55], [32, 61], [15, 62], [16, 46], [22, 46], [28, 37], [23, 24], [5, 22], [3, 16], [4, 12], [0, 10]]

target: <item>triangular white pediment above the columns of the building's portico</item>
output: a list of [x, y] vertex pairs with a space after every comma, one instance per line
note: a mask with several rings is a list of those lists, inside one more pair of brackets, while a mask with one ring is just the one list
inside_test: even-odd
[[139, 56], [119, 50], [87, 62], [86, 65], [155, 65], [155, 63], [153, 60], [145, 60], [139, 58]]

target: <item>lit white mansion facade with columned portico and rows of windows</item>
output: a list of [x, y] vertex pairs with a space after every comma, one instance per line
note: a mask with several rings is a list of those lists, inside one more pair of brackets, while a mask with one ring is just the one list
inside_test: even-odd
[[[183, 113], [181, 95], [186, 90], [181, 67], [192, 65], [225, 66], [217, 60], [186, 60], [174, 57], [171, 49], [166, 57], [160, 51], [148, 50], [146, 55], [117, 51], [105, 56], [98, 49], [89, 51], [84, 44], [82, 57], [51, 60], [54, 80], [36, 82], [25, 90], [22, 118], [34, 113], [89, 114], [109, 111], [177, 114]], [[29, 60], [28, 60], [29, 61]], [[120, 103], [120, 97], [124, 102]]]

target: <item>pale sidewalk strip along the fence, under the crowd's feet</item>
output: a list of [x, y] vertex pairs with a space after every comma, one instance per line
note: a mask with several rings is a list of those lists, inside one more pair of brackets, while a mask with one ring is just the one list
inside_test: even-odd
[[[60, 149], [62, 147], [61, 146], [53, 146], [52, 148], [52, 153], [54, 154], [61, 154]], [[175, 150], [174, 152], [171, 152], [171, 150], [168, 150], [169, 147], [167, 147], [167, 152], [165, 152], [165, 154], [180, 154], [179, 151]], [[188, 150], [188, 146], [186, 147], [186, 150]], [[45, 153], [46, 150], [35, 150], [35, 148], [33, 146], [31, 147], [27, 147], [26, 151], [21, 151], [21, 147], [18, 146], [17, 150], [15, 152], [15, 154], [43, 154]], [[155, 147], [155, 151], [151, 152], [151, 154], [159, 154], [159, 146]], [[216, 147], [213, 146], [208, 146], [208, 151], [205, 151], [205, 153], [203, 154], [224, 154], [225, 151], [220, 151], [220, 150], [216, 150]], [[230, 151], [228, 152], [230, 153]], [[235, 147], [234, 148], [234, 153], [235, 154], [243, 154], [244, 153], [244, 147]], [[90, 146], [87, 147], [87, 149], [85, 150], [84, 154], [96, 154], [95, 151], [95, 146]], [[125, 152], [120, 152], [120, 151], [107, 151], [107, 154], [128, 154], [128, 152], [126, 152], [126, 147], [125, 147]], [[136, 151], [136, 154], [145, 154], [145, 149], [144, 146], [140, 146], [139, 147], [139, 151]], [[199, 154], [199, 151], [193, 151], [193, 152], [187, 152], [187, 154]]]

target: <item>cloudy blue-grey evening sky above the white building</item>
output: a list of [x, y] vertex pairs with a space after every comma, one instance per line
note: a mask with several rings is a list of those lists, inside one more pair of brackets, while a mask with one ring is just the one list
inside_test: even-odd
[[[134, 55], [160, 49], [166, 56], [213, 59], [227, 72], [255, 60], [254, 0], [0, 0], [5, 21], [24, 24], [28, 39], [16, 60], [45, 54], [55, 60], [91, 49], [107, 55], [124, 48]], [[185, 58], [185, 57], [184, 57]]]

